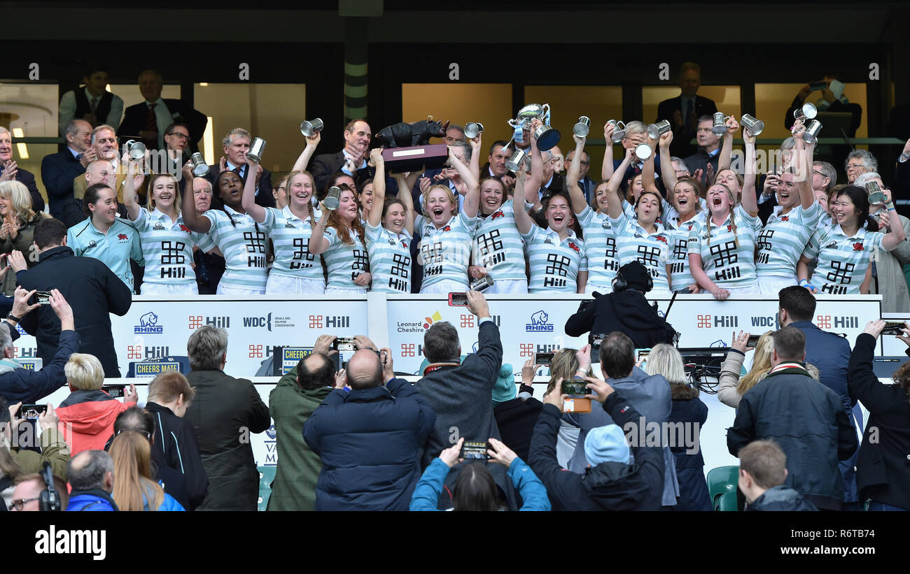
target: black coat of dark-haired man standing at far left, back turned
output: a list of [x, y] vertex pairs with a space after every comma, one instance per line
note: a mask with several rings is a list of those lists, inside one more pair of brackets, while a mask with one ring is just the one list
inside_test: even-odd
[[[110, 313], [123, 316], [133, 303], [133, 294], [104, 262], [91, 257], [76, 257], [69, 247], [49, 249], [35, 267], [17, 273], [26, 290], [59, 289], [73, 308], [79, 352], [95, 355], [104, 367], [105, 377], [119, 377]], [[50, 305], [28, 313], [22, 328], [35, 336], [38, 356], [45, 364], [56, 354], [60, 341], [60, 320]]]

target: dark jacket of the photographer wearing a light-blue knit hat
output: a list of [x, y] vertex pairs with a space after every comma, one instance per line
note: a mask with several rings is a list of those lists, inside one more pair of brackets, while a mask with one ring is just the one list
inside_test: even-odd
[[[593, 405], [596, 407], [596, 405]], [[638, 424], [638, 411], [612, 392], [603, 410], [624, 428]], [[528, 464], [547, 487], [553, 510], [660, 510], [663, 497], [663, 454], [661, 447], [632, 446], [633, 464], [602, 462], [576, 474], [561, 468], [556, 460], [556, 435], [561, 412], [543, 405], [531, 438]]]

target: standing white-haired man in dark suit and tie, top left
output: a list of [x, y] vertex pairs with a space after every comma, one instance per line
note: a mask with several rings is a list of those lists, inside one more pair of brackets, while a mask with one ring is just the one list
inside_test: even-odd
[[198, 143], [206, 131], [208, 119], [206, 114], [189, 107], [183, 100], [165, 100], [161, 98], [164, 78], [155, 70], [146, 70], [139, 74], [139, 92], [145, 98], [142, 104], [126, 108], [120, 133], [133, 139], [142, 137], [148, 149], [166, 149], [165, 135], [170, 124], [185, 124], [189, 132], [189, 149], [198, 152]]

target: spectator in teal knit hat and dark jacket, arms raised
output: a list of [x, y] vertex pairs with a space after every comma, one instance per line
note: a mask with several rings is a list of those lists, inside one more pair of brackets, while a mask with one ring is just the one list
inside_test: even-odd
[[533, 398], [534, 372], [541, 368], [529, 359], [521, 369], [521, 394], [515, 392], [515, 375], [509, 363], [502, 365], [496, 386], [493, 387], [493, 418], [500, 428], [502, 442], [521, 460], [528, 460], [531, 449], [531, 431], [541, 414], [543, 403]]

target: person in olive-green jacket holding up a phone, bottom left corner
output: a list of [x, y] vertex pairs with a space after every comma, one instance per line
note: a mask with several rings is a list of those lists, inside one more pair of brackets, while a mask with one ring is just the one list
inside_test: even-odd
[[[9, 508], [13, 500], [16, 480], [41, 471], [45, 463], [56, 476], [66, 478], [66, 464], [69, 463], [69, 447], [57, 430], [59, 421], [54, 407], [48, 404], [47, 410], [38, 416], [41, 443], [37, 444], [34, 428], [22, 424], [25, 419], [16, 417], [21, 406], [21, 402], [10, 405], [0, 397], [0, 497], [3, 498], [0, 503], [5, 508]], [[35, 446], [41, 447], [40, 452], [29, 448]], [[63, 483], [66, 487], [66, 480]]]

